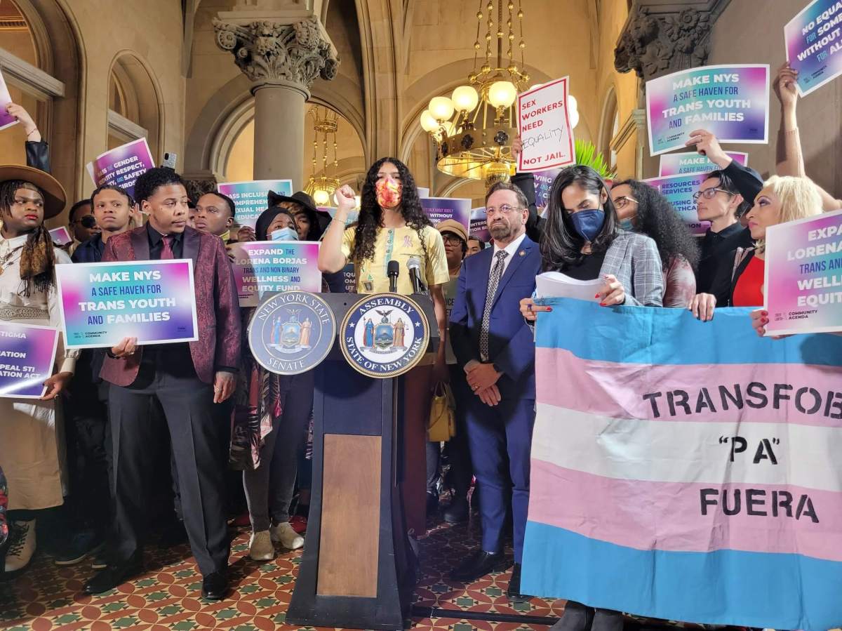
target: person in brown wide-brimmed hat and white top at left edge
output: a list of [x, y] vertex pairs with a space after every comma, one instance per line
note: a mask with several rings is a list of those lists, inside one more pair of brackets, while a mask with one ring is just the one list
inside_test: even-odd
[[[0, 166], [0, 319], [58, 328], [61, 314], [56, 265], [70, 258], [56, 248], [44, 220], [65, 205], [61, 184], [36, 168]], [[35, 518], [41, 509], [61, 505], [60, 419], [56, 400], [76, 368], [77, 350], [63, 350], [60, 366], [45, 382], [39, 399], [0, 398], [0, 468], [8, 477], [11, 543], [5, 569], [23, 569], [35, 553]]]

